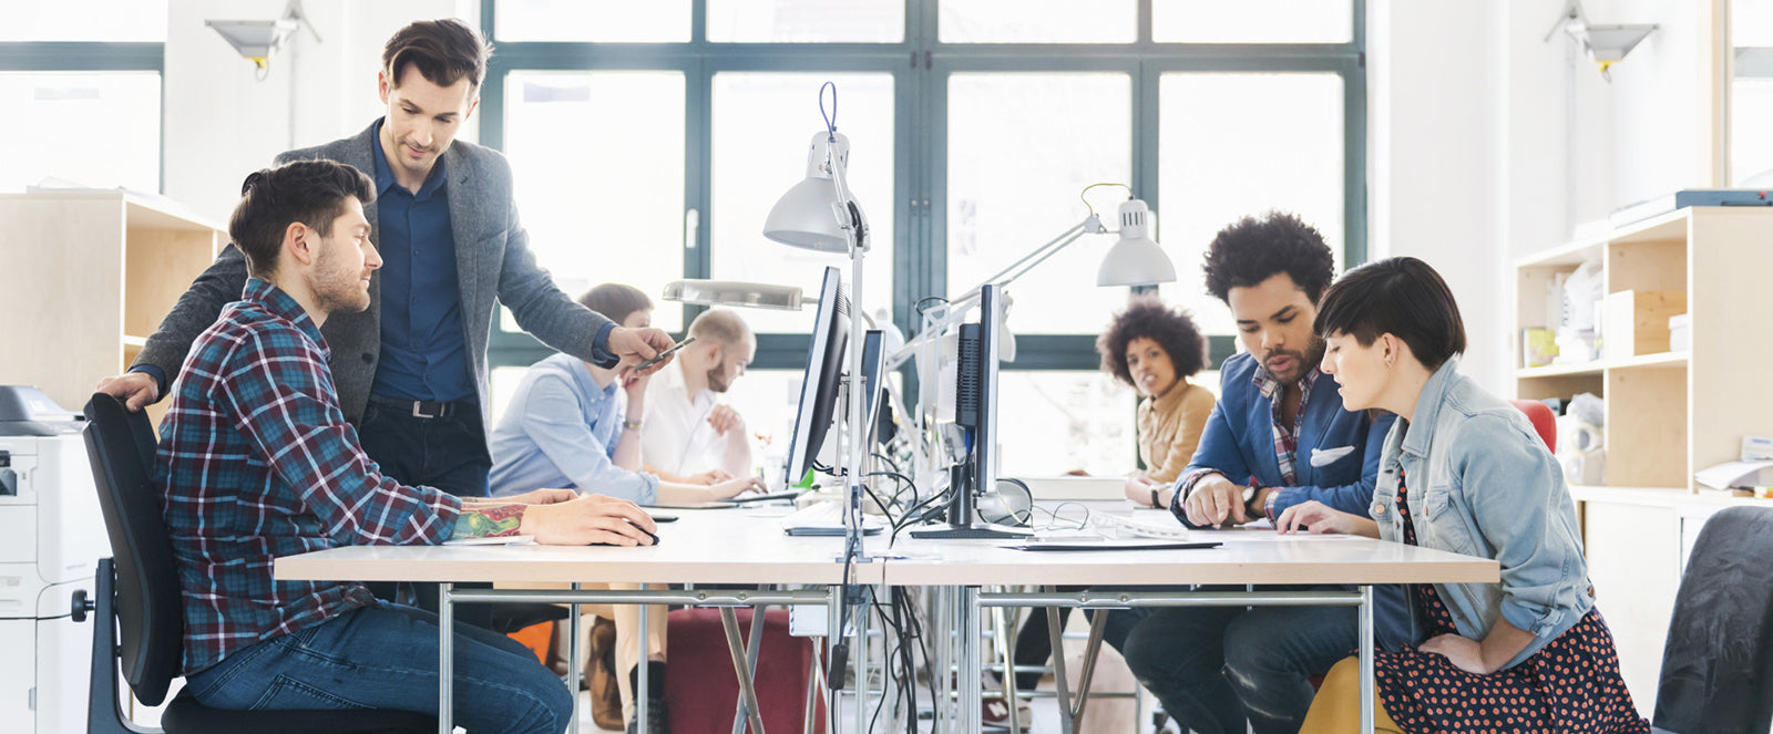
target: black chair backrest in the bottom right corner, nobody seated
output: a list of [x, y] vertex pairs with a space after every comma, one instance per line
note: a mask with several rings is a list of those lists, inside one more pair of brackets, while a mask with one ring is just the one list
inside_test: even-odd
[[1773, 507], [1706, 521], [1668, 621], [1658, 729], [1766, 734], [1773, 723]]

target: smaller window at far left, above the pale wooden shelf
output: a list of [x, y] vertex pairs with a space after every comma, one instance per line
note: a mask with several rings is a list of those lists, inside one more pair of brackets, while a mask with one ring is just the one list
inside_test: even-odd
[[160, 191], [165, 0], [0, 5], [0, 191]]

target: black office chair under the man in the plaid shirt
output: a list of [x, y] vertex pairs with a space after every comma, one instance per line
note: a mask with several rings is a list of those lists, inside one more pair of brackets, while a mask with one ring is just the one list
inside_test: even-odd
[[[177, 560], [160, 518], [154, 489], [154, 429], [147, 413], [124, 408], [106, 394], [87, 402], [87, 457], [105, 512], [112, 558], [99, 560], [92, 599], [74, 596], [74, 621], [92, 619], [92, 688], [87, 697], [87, 734], [158, 734], [122, 711], [122, 679], [147, 706], [167, 699], [184, 654], [184, 610]], [[436, 716], [387, 709], [342, 711], [227, 711], [197, 702], [190, 691], [172, 699], [161, 716], [167, 734], [369, 734], [434, 732]]]

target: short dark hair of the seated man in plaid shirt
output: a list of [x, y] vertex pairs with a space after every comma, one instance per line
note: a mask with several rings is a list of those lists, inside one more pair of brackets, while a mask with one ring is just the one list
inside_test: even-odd
[[239, 184], [239, 204], [227, 222], [227, 236], [246, 255], [246, 271], [264, 278], [277, 271], [284, 229], [301, 222], [319, 236], [332, 236], [332, 223], [344, 215], [344, 200], [376, 200], [376, 184], [346, 163], [316, 160], [261, 168]]

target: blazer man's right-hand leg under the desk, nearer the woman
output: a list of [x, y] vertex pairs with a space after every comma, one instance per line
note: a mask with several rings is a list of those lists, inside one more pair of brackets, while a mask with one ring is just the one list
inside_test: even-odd
[[1356, 647], [1353, 606], [1257, 606], [1225, 631], [1225, 670], [1255, 734], [1293, 734], [1312, 707], [1310, 677]]

